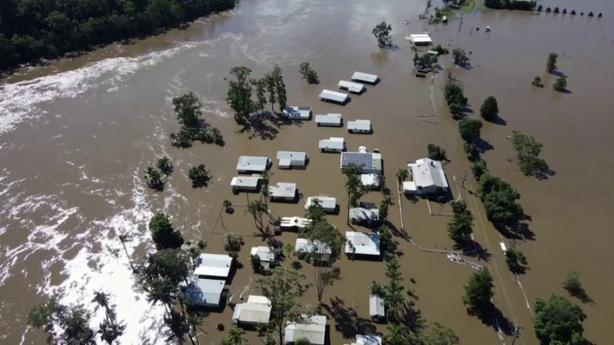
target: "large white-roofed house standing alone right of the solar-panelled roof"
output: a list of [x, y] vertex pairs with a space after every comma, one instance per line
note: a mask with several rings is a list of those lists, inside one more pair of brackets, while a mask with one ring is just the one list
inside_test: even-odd
[[422, 158], [407, 164], [411, 181], [403, 182], [405, 194], [435, 196], [448, 192], [448, 180], [441, 162]]

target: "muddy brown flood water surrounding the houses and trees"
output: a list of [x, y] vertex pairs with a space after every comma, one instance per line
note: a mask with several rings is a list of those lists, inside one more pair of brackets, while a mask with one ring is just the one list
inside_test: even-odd
[[[554, 4], [545, 4], [554, 6]], [[345, 137], [347, 147], [370, 150], [378, 147], [385, 164], [388, 184], [394, 190], [395, 174], [408, 161], [426, 155], [435, 143], [448, 149], [448, 181], [458, 197], [468, 200], [476, 215], [474, 236], [490, 252], [487, 259], [473, 262], [490, 267], [495, 278], [495, 305], [502, 330], [512, 324], [524, 326], [516, 343], [538, 344], [531, 327], [532, 304], [551, 292], [566, 294], [561, 285], [571, 270], [581, 279], [592, 302], [574, 301], [588, 319], [585, 336], [598, 344], [609, 343], [614, 331], [608, 321], [614, 316], [610, 297], [614, 280], [609, 248], [614, 240], [610, 224], [613, 195], [609, 177], [614, 174], [614, 139], [610, 131], [611, 62], [614, 61], [614, 5], [607, 0], [591, 4], [558, 1], [561, 9], [577, 13], [604, 13], [604, 17], [563, 14], [475, 11], [447, 26], [431, 27], [418, 20], [420, 0], [243, 0], [233, 11], [197, 21], [188, 29], [125, 46], [107, 46], [72, 60], [45, 67], [24, 69], [3, 80], [0, 86], [0, 342], [38, 344], [44, 334], [26, 325], [27, 311], [58, 293], [64, 303], [89, 303], [94, 291], [113, 295], [118, 318], [128, 325], [122, 344], [162, 344], [163, 310], [150, 306], [135, 285], [134, 276], [117, 234], [128, 232], [128, 251], [140, 260], [152, 243], [147, 230], [151, 215], [164, 211], [186, 240], [206, 240], [207, 251], [223, 253], [224, 228], [217, 222], [222, 201], [246, 204], [255, 195], [235, 196], [230, 181], [238, 156], [269, 156], [277, 150], [304, 151], [311, 157], [306, 170], [280, 171], [277, 164], [271, 182], [296, 182], [306, 198], [320, 194], [337, 197], [339, 215], [328, 220], [341, 231], [345, 224], [344, 177], [336, 154], [322, 154], [318, 140]], [[409, 21], [404, 25], [403, 21]], [[376, 22], [392, 24], [397, 49], [380, 50], [371, 35]], [[483, 32], [489, 25], [490, 36]], [[479, 31], [472, 28], [481, 28]], [[486, 220], [479, 200], [469, 193], [475, 181], [456, 189], [469, 167], [457, 134], [456, 122], [447, 114], [441, 89], [452, 65], [448, 56], [439, 63], [446, 72], [433, 80], [414, 79], [414, 53], [404, 36], [428, 30], [435, 44], [461, 46], [471, 67], [452, 67], [453, 77], [465, 86], [479, 117], [483, 99], [499, 100], [500, 118], [486, 123], [482, 138], [491, 149], [484, 153], [490, 171], [522, 194], [530, 240], [516, 240], [528, 258], [530, 269], [520, 277], [523, 290], [507, 273], [499, 249], [499, 232]], [[555, 77], [545, 70], [550, 52], [559, 54], [559, 72], [566, 75], [567, 94], [551, 89]], [[308, 85], [298, 73], [308, 61], [320, 75], [320, 85]], [[373, 135], [348, 134], [344, 129], [319, 128], [314, 122], [283, 125], [263, 133], [240, 133], [225, 97], [229, 71], [235, 66], [252, 69], [260, 78], [278, 63], [284, 73], [289, 105], [311, 105], [313, 114], [340, 113], [344, 122], [370, 119]], [[378, 74], [381, 82], [352, 96], [345, 106], [320, 102], [322, 88], [336, 89], [338, 80], [348, 80], [354, 71]], [[541, 76], [545, 88], [533, 88]], [[195, 144], [181, 150], [170, 146], [168, 134], [176, 131], [171, 99], [192, 91], [203, 103], [207, 122], [217, 126], [225, 147]], [[439, 116], [418, 117], [424, 114]], [[542, 157], [554, 172], [546, 180], [527, 177], [513, 162], [513, 130], [533, 134], [544, 144]], [[142, 171], [160, 156], [169, 156], [175, 173], [163, 192], [147, 189]], [[510, 162], [510, 160], [512, 160]], [[187, 172], [192, 165], [206, 164], [213, 176], [207, 188], [192, 189]], [[362, 198], [379, 202], [381, 193]], [[396, 198], [396, 194], [395, 194]], [[396, 199], [397, 201], [397, 199]], [[397, 201], [398, 205], [398, 201]], [[390, 220], [401, 229], [397, 205]], [[423, 201], [402, 198], [407, 231], [424, 248], [450, 249], [446, 216], [429, 215]], [[449, 212], [448, 206], [431, 203], [434, 213]], [[303, 200], [297, 205], [271, 203], [276, 216], [303, 215]], [[249, 265], [249, 249], [264, 245], [250, 215], [236, 206], [234, 215], [223, 215], [228, 231], [242, 234], [246, 242], [239, 260], [243, 269], [228, 286], [234, 296], [257, 294]], [[368, 231], [357, 228], [358, 231]], [[295, 233], [277, 237], [294, 242]], [[419, 297], [415, 307], [430, 322], [452, 328], [463, 344], [499, 343], [495, 326], [468, 316], [461, 301], [463, 285], [472, 273], [468, 265], [456, 265], [443, 254], [423, 252], [397, 238], [399, 261], [406, 286]], [[507, 241], [507, 245], [512, 242]], [[287, 265], [290, 264], [288, 260]], [[385, 325], [371, 324], [367, 285], [371, 278], [385, 283], [385, 264], [371, 261], [339, 263], [343, 279], [327, 290], [323, 313], [328, 316], [331, 344], [354, 341], [362, 332], [386, 333]], [[303, 273], [311, 279], [309, 265]], [[414, 278], [415, 283], [409, 282]], [[235, 300], [236, 302], [236, 300]], [[315, 290], [303, 300], [317, 302]], [[93, 305], [89, 305], [93, 311]], [[231, 326], [232, 310], [211, 313], [200, 335], [201, 343], [218, 343], [226, 332], [218, 323]], [[95, 313], [96, 326], [102, 318]], [[248, 340], [259, 344], [255, 332]], [[507, 343], [512, 337], [505, 336]], [[203, 342], [204, 341], [204, 342]]]

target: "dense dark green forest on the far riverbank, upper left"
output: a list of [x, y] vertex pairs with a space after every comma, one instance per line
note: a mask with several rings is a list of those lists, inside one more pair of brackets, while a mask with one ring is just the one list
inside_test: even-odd
[[177, 27], [235, 0], [0, 0], [0, 71]]

